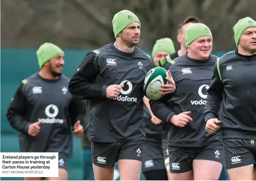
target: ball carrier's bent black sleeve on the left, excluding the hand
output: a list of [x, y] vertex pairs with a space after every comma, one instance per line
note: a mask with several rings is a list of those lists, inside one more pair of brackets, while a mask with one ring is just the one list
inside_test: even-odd
[[100, 74], [94, 60], [95, 56], [94, 52], [88, 53], [69, 82], [69, 91], [79, 99], [106, 98], [107, 86], [94, 83], [97, 75]]

